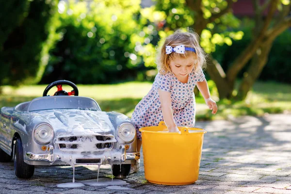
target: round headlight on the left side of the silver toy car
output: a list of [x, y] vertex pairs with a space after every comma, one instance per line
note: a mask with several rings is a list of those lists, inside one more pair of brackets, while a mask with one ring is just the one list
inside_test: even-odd
[[48, 144], [53, 138], [53, 129], [48, 124], [41, 124], [34, 130], [34, 137], [40, 144]]

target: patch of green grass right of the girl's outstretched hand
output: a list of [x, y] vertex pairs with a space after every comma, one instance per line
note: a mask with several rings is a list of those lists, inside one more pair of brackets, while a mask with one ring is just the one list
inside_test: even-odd
[[221, 110], [219, 116], [223, 118], [229, 116], [261, 116], [265, 113], [290, 112], [291, 85], [258, 81], [244, 101], [222, 100], [218, 104]]

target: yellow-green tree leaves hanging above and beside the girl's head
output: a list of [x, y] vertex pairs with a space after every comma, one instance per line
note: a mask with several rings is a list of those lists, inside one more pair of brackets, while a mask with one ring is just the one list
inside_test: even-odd
[[[219, 12], [227, 6], [223, 0], [203, 0], [203, 17], [209, 18], [211, 13]], [[172, 34], [175, 29], [187, 29], [193, 27], [198, 13], [185, 6], [185, 0], [156, 0], [156, 5], [146, 8], [142, 15], [150, 22], [155, 23], [159, 30], [161, 38], [159, 45], [164, 41], [164, 38]], [[243, 32], [228, 32], [227, 28], [238, 27], [240, 21], [231, 13], [228, 13], [220, 18], [209, 23], [207, 28], [201, 33], [201, 46], [207, 53], [214, 52], [216, 45], [232, 44], [232, 40], [242, 39]], [[195, 31], [196, 29], [194, 29]], [[153, 62], [145, 63], [146, 65], [154, 65]]]

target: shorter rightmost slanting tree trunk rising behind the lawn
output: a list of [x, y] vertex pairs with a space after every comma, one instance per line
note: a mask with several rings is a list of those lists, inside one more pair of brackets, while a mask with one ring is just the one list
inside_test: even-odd
[[244, 73], [244, 78], [240, 85], [237, 99], [243, 100], [247, 96], [247, 93], [253, 87], [255, 81], [259, 78], [264, 66], [267, 64], [268, 56], [272, 48], [272, 43], [259, 47], [257, 53], [254, 55], [247, 72]]

